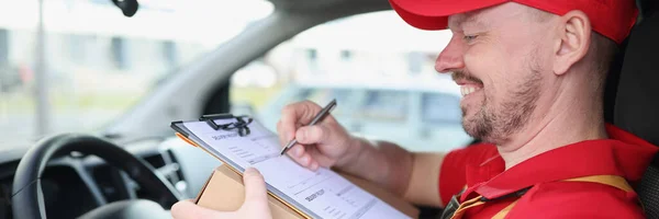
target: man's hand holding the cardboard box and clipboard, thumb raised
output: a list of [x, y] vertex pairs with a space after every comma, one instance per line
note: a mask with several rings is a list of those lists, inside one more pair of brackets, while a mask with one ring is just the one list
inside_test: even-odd
[[268, 194], [264, 176], [256, 169], [247, 169], [243, 174], [245, 184], [245, 203], [236, 211], [217, 211], [194, 205], [190, 200], [181, 200], [171, 206], [175, 219], [270, 219]]

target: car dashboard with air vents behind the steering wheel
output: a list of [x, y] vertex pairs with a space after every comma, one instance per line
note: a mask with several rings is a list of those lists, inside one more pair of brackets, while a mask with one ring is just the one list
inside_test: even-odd
[[[178, 138], [142, 140], [122, 146], [165, 176], [185, 198], [193, 198], [221, 162]], [[27, 147], [0, 154], [0, 219], [13, 218], [13, 175]], [[55, 159], [42, 175], [47, 218], [76, 218], [99, 206], [124, 199], [152, 199], [127, 174], [97, 157], [79, 153]]]

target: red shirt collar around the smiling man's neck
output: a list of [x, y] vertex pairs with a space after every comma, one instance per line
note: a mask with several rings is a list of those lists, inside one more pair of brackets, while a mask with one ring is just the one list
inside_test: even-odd
[[619, 175], [636, 182], [659, 150], [649, 142], [613, 125], [606, 125], [611, 139], [585, 140], [560, 147], [528, 159], [507, 171], [500, 155], [477, 166], [467, 166], [463, 197], [476, 192], [498, 198], [538, 183], [589, 175]]

